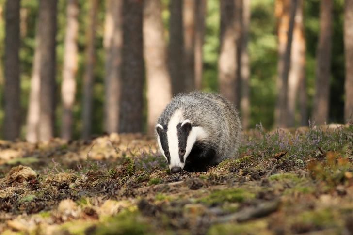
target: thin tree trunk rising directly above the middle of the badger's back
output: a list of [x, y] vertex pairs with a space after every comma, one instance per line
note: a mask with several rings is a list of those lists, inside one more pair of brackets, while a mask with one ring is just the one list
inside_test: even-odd
[[203, 53], [205, 37], [205, 16], [206, 16], [206, 0], [195, 0], [195, 89], [201, 90], [202, 71], [203, 71]]

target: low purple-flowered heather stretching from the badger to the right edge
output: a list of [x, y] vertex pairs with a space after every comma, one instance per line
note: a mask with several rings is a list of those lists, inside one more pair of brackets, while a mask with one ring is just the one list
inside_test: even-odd
[[323, 128], [309, 121], [307, 130], [296, 129], [294, 133], [278, 128], [267, 132], [261, 123], [250, 135], [245, 135], [239, 153], [243, 156], [272, 157], [281, 151], [288, 151], [288, 157], [303, 159], [323, 151], [340, 151], [347, 144], [349, 130], [342, 127]]

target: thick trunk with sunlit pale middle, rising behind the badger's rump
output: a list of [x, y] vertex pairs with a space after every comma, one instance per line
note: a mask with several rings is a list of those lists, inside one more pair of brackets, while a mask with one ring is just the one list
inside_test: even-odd
[[220, 53], [218, 58], [219, 90], [236, 105], [237, 45], [235, 29], [235, 1], [221, 0]]

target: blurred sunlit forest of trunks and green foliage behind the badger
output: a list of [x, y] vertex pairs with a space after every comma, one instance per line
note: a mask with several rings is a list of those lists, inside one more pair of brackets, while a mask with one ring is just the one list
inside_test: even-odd
[[0, 0], [0, 54], [1, 139], [153, 135], [193, 90], [244, 129], [353, 113], [353, 0]]

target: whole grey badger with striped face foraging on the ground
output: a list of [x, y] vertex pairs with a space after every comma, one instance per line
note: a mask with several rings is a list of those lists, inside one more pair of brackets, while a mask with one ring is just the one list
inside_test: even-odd
[[204, 171], [234, 157], [241, 122], [234, 105], [220, 94], [178, 94], [157, 120], [160, 152], [173, 173]]

